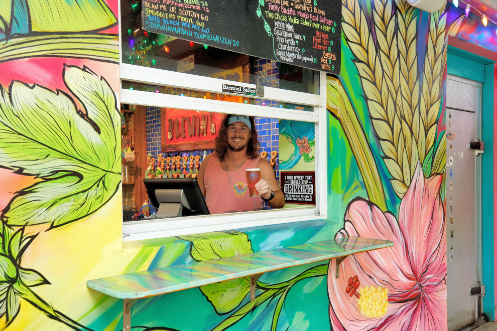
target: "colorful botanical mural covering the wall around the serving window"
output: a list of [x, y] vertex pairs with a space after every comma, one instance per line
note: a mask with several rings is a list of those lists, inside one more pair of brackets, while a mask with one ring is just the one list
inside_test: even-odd
[[[447, 31], [463, 20], [449, 22], [446, 8], [342, 1], [342, 75], [328, 78], [326, 226], [122, 249], [117, 2], [10, 3], [0, 13], [2, 329], [117, 330], [121, 301], [86, 289], [86, 279], [330, 233], [395, 244], [344, 260], [339, 279], [324, 263], [266, 275], [254, 301], [247, 278], [143, 299], [133, 329], [446, 329], [443, 92]], [[295, 163], [310, 161], [312, 130], [291, 140]], [[63, 273], [74, 261], [80, 267]]]

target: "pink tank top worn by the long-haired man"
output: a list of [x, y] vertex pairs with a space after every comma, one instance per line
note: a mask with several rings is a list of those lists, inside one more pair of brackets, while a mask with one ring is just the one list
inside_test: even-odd
[[[205, 202], [211, 214], [245, 212], [263, 209], [260, 197], [249, 197], [245, 169], [257, 168], [261, 157], [246, 159], [237, 171], [229, 172], [231, 183], [216, 153], [211, 153], [204, 173]], [[224, 165], [224, 163], [222, 163]]]

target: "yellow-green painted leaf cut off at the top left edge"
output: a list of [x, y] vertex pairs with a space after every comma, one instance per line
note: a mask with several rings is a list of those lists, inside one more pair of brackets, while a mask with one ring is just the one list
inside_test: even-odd
[[27, 0], [31, 30], [78, 32], [103, 30], [117, 23], [103, 0]]

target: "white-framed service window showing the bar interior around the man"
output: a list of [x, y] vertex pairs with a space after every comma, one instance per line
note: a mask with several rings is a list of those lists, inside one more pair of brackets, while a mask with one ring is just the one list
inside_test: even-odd
[[[141, 29], [140, 16], [139, 8], [121, 2], [125, 240], [324, 216], [325, 156], [319, 155], [325, 155], [326, 133], [318, 123], [326, 119], [325, 75], [149, 33]], [[198, 202], [191, 203], [195, 188], [157, 184], [198, 180], [226, 114], [254, 117], [259, 156], [271, 165], [284, 193], [283, 209], [264, 203], [261, 210], [233, 214], [227, 206], [222, 214], [205, 215]], [[176, 201], [169, 193], [178, 188], [187, 193]], [[240, 180], [229, 189], [241, 195], [249, 188]], [[158, 191], [159, 198], [151, 193]], [[161, 199], [171, 206], [154, 218]]]

